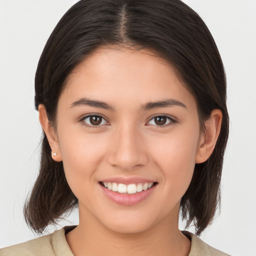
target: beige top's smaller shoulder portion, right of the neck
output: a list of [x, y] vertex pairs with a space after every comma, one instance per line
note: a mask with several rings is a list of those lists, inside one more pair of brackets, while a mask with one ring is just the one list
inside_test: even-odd
[[199, 237], [188, 231], [182, 231], [182, 233], [191, 239], [191, 249], [188, 256], [229, 256], [228, 254], [211, 247]]

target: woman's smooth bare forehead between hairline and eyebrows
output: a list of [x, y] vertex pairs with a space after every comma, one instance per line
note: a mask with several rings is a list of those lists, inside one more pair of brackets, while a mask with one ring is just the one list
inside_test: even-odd
[[140, 105], [171, 97], [195, 104], [166, 60], [148, 49], [121, 47], [98, 48], [74, 68], [60, 99], [71, 104], [79, 97]]

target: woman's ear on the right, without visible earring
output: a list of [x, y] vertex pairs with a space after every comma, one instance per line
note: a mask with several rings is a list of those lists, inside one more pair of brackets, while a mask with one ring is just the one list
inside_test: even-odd
[[205, 130], [200, 137], [195, 163], [204, 162], [211, 155], [220, 132], [221, 120], [221, 111], [219, 109], [214, 109], [211, 111], [209, 119], [204, 122]]

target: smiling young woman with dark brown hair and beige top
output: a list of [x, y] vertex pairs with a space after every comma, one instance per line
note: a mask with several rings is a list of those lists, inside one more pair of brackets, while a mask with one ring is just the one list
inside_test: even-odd
[[81, 0], [40, 57], [40, 172], [24, 207], [41, 233], [0, 255], [226, 255], [199, 235], [219, 199], [228, 135], [225, 73], [180, 0]]

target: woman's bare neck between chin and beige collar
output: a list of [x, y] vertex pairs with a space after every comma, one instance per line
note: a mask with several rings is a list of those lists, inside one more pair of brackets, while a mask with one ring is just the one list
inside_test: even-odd
[[102, 253], [104, 256], [189, 254], [190, 241], [179, 231], [178, 219], [163, 219], [137, 233], [119, 233], [87, 217], [80, 216], [79, 225], [66, 234], [67, 243], [75, 256], [96, 256]]

